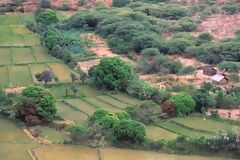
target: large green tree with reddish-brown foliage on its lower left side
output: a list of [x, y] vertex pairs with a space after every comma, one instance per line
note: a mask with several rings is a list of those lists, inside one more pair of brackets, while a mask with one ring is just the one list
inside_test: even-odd
[[21, 100], [17, 103], [17, 117], [29, 124], [35, 123], [36, 119], [32, 119], [34, 117], [37, 117], [41, 123], [53, 121], [57, 108], [49, 90], [28, 86], [21, 96]]

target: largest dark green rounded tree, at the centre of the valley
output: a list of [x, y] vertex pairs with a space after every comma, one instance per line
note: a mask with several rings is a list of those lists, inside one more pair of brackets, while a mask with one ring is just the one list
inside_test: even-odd
[[133, 78], [133, 71], [123, 60], [109, 57], [91, 67], [89, 77], [90, 82], [99, 88], [125, 90]]

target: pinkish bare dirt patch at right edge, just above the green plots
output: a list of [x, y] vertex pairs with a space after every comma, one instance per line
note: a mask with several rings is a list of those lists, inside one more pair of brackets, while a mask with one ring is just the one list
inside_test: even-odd
[[[229, 118], [229, 113], [231, 115], [230, 119], [240, 121], [240, 109], [218, 109], [218, 113], [222, 118]], [[210, 110], [207, 115], [211, 115]]]

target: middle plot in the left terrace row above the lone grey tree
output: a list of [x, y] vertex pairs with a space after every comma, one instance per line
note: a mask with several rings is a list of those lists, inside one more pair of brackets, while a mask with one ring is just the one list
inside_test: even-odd
[[12, 48], [12, 57], [14, 64], [36, 63], [31, 48]]

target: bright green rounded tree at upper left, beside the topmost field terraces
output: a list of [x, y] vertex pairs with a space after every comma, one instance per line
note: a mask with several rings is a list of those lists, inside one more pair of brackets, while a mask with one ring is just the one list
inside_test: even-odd
[[59, 19], [58, 19], [57, 13], [54, 10], [48, 9], [36, 15], [36, 22], [44, 24], [46, 26], [56, 23], [58, 21]]

